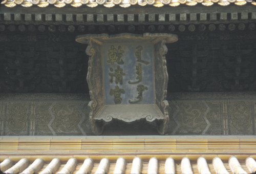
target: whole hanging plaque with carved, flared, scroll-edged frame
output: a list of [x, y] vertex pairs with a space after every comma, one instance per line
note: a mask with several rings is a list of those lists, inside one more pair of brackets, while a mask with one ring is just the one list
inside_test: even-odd
[[[91, 97], [91, 101], [89, 103], [90, 121], [94, 134], [101, 135], [105, 123], [110, 122], [113, 119], [129, 123], [140, 119], [145, 119], [148, 122], [157, 120], [155, 125], [158, 133], [160, 135], [165, 134], [169, 121], [168, 111], [166, 108], [168, 106], [168, 102], [166, 101], [168, 73], [165, 59], [167, 47], [165, 44], [175, 42], [177, 40], [177, 35], [167, 33], [144, 33], [143, 35], [129, 33], [117, 35], [87, 34], [78, 35], [76, 37], [77, 42], [88, 44], [86, 49], [86, 53], [89, 55], [87, 82]], [[141, 58], [141, 50], [143, 48], [143, 54], [147, 54], [146, 58], [149, 58], [147, 60], [150, 60], [148, 62]], [[138, 96], [136, 99], [126, 99], [127, 96], [132, 93], [130, 91], [133, 91], [133, 94], [136, 92], [136, 88], [133, 87], [133, 89], [131, 89], [131, 87], [129, 87], [129, 83], [134, 84], [136, 82], [134, 82], [134, 79], [126, 80], [123, 84], [122, 75], [125, 75], [125, 73], [123, 73], [124, 66], [115, 65], [115, 70], [108, 67], [108, 63], [113, 66], [114, 62], [115, 64], [124, 64], [122, 59], [123, 54], [125, 54], [124, 50], [129, 52], [128, 57], [126, 55], [126, 60], [129, 60], [128, 66], [131, 64], [130, 59], [137, 58], [136, 62], [142, 62], [137, 63], [138, 66], [136, 66], [136, 74], [137, 70], [141, 68], [140, 64], [151, 64], [150, 68], [152, 70], [148, 70], [148, 72], [150, 72], [149, 76], [147, 75], [148, 72], [140, 73], [141, 76], [145, 77], [146, 80], [144, 83], [147, 85], [144, 85], [144, 83], [137, 85]], [[130, 54], [132, 51], [135, 53]], [[111, 53], [113, 52], [115, 53], [115, 56], [111, 57]], [[141, 59], [138, 59], [139, 56], [141, 56]], [[106, 63], [107, 58], [109, 58], [108, 63]], [[129, 72], [129, 68], [126, 68], [126, 71], [128, 71], [128, 73], [126, 72], [126, 75], [131, 74], [131, 72]], [[114, 72], [118, 72], [119, 76], [114, 74]], [[140, 79], [139, 74], [137, 75], [136, 79]], [[119, 81], [116, 80], [114, 83], [113, 76], [115, 80], [119, 79]], [[110, 79], [113, 84], [120, 83], [121, 87], [124, 87], [125, 89], [119, 88], [120, 85], [114, 85], [114, 88], [113, 84], [110, 84], [112, 86], [109, 87], [108, 84], [106, 84], [106, 82], [109, 81], [106, 79]], [[152, 79], [153, 82], [147, 83], [150, 79]], [[129, 92], [124, 94], [126, 91]], [[142, 99], [143, 91], [147, 91], [147, 93], [145, 93], [147, 95], [145, 95], [144, 101]], [[110, 101], [109, 94], [114, 98], [114, 102]], [[121, 98], [121, 95], [124, 98]], [[137, 101], [143, 102], [137, 103]]]

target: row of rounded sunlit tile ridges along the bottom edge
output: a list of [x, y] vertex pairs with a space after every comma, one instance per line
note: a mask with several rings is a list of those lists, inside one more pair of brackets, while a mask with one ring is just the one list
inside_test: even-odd
[[[178, 160], [176, 160], [178, 162]], [[66, 164], [65, 164], [66, 163]], [[246, 167], [245, 167], [246, 166]], [[180, 163], [175, 163], [173, 158], [167, 158], [165, 161], [158, 160], [155, 157], [150, 158], [148, 162], [142, 161], [141, 158], [135, 157], [132, 162], [129, 162], [119, 157], [116, 162], [112, 162], [107, 158], [102, 158], [100, 162], [93, 161], [91, 158], [86, 158], [83, 163], [76, 158], [70, 158], [67, 162], [60, 161], [58, 158], [52, 159], [50, 163], [45, 163], [41, 158], [37, 158], [29, 165], [29, 160], [26, 158], [20, 159], [15, 165], [11, 159], [5, 159], [0, 168], [5, 173], [248, 173], [256, 172], [256, 161], [248, 157], [245, 164], [240, 164], [238, 159], [231, 156], [228, 163], [223, 163], [219, 157], [212, 159], [211, 164], [207, 164], [205, 158], [197, 159], [196, 164], [190, 163], [189, 158], [182, 158]]]

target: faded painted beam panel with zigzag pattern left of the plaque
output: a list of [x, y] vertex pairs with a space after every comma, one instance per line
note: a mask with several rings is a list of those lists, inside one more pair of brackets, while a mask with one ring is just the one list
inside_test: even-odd
[[0, 135], [91, 135], [84, 94], [0, 94]]

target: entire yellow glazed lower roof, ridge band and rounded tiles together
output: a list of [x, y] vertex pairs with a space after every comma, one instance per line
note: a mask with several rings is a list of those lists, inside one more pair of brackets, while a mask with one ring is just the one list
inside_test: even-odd
[[[101, 161], [105, 161], [108, 164], [103, 164], [105, 167], [103, 169], [106, 170], [106, 173], [112, 174], [117, 159], [120, 157], [125, 160], [125, 164], [121, 166], [124, 167], [122, 168], [123, 173], [131, 173], [134, 158], [140, 158], [140, 173], [142, 174], [150, 172], [148, 171], [150, 168], [156, 168], [159, 174], [168, 173], [165, 168], [170, 165], [174, 166], [176, 173], [182, 173], [182, 170], [186, 168], [191, 168], [193, 173], [199, 173], [199, 170], [205, 167], [208, 167], [211, 173], [215, 173], [216, 166], [214, 167], [214, 165], [224, 166], [229, 173], [231, 170], [243, 170], [250, 173], [256, 167], [255, 136], [74, 136], [54, 138], [49, 136], [41, 137], [41, 139], [39, 136], [31, 137], [31, 139], [13, 136], [0, 138], [0, 147], [13, 145], [12, 150], [0, 148], [0, 168], [8, 172], [22, 168], [22, 171], [20, 169], [17, 172], [31, 170], [31, 172], [40, 173], [56, 158], [60, 164], [56, 163], [56, 166], [52, 167], [55, 169], [54, 173], [65, 170], [65, 166], [70, 171], [72, 170], [71, 173], [76, 173], [83, 167], [84, 160], [90, 158], [93, 163], [89, 173], [95, 173], [100, 166], [102, 167]], [[35, 141], [36, 139], [38, 141]], [[147, 148], [148, 144], [153, 145], [154, 142], [156, 143], [154, 148]], [[102, 145], [100, 145], [101, 143]], [[41, 148], [45, 144], [48, 147], [54, 144], [54, 148]], [[168, 144], [175, 145], [174, 147], [178, 145], [177, 149], [170, 150]], [[242, 144], [248, 144], [246, 146], [248, 151], [240, 149]], [[30, 150], [25, 147], [20, 148], [25, 145]], [[87, 146], [88, 149], [80, 149], [80, 145]], [[95, 145], [97, 145], [96, 148]], [[199, 158], [205, 160], [198, 160]], [[212, 160], [216, 158], [219, 159], [219, 162], [214, 164]], [[149, 165], [151, 159], [155, 161], [152, 165], [156, 166]], [[166, 162], [167, 160], [168, 162]], [[41, 163], [42, 161], [44, 164]], [[182, 161], [183, 165], [181, 165]]]

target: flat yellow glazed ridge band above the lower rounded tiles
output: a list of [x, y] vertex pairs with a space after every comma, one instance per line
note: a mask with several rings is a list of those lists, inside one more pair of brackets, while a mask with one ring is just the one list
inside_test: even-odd
[[[228, 137], [228, 136], [227, 136]], [[129, 136], [129, 138], [123, 137], [118, 139], [115, 137], [92, 137], [90, 136], [81, 137], [80, 139], [75, 137], [42, 137], [39, 136], [31, 139], [28, 137], [1, 137], [0, 141], [0, 153], [10, 154], [23, 153], [30, 150], [33, 154], [35, 153], [61, 153], [61, 152], [79, 152], [82, 150], [84, 153], [160, 153], [160, 154], [171, 154], [171, 153], [200, 153], [200, 154], [220, 154], [220, 153], [256, 153], [256, 140], [255, 136], [251, 139], [242, 138], [216, 138], [208, 136], [208, 139], [198, 136], [194, 139], [193, 136], [185, 136], [182, 138], [166, 139], [165, 136], [157, 137], [145, 137], [144, 139], [138, 139]], [[27, 148], [29, 147], [29, 149]]]

